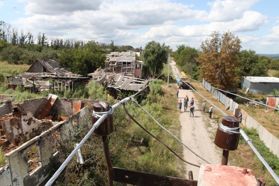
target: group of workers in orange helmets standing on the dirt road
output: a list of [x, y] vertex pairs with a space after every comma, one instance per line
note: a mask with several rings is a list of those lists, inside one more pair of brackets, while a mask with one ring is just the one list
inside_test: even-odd
[[[178, 98], [178, 92], [179, 92], [179, 89], [177, 88], [177, 91], [176, 91], [176, 97]], [[189, 102], [189, 98], [188, 98], [188, 95], [186, 94], [186, 96], [184, 97], [184, 112], [187, 111], [187, 108], [188, 108], [188, 102]], [[182, 101], [179, 100], [178, 102], [178, 107], [179, 107], [179, 111], [181, 112], [181, 108], [182, 108]], [[202, 103], [202, 111], [203, 113], [205, 113], [205, 107], [206, 107], [206, 101], [203, 100], [203, 103]], [[190, 100], [190, 117], [194, 117], [194, 97], [191, 98]], [[210, 107], [209, 107], [209, 117], [211, 118], [211, 115], [212, 115], [212, 111], [213, 111], [213, 107], [212, 107], [212, 104], [210, 104]]]

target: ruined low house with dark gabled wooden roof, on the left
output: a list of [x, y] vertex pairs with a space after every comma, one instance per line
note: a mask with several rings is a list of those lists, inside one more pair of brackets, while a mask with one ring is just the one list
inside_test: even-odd
[[[15, 90], [23, 86], [26, 91], [72, 90], [74, 85], [86, 83], [88, 77], [74, 74], [56, 60], [36, 60], [27, 72], [16, 76], [7, 76], [8, 87]], [[47, 81], [48, 80], [48, 81]]]

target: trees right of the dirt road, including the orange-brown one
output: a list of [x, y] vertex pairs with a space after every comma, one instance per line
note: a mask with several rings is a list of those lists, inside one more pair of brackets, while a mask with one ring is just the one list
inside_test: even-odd
[[201, 50], [179, 45], [173, 53], [176, 64], [195, 80], [204, 78], [216, 88], [235, 89], [241, 76], [268, 76], [276, 70], [279, 77], [279, 59], [259, 56], [253, 50], [241, 51], [241, 40], [231, 32], [212, 32], [201, 43]]

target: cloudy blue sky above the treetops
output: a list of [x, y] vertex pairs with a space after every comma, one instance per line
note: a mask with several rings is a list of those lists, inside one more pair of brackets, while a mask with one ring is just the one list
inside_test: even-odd
[[72, 38], [145, 47], [150, 41], [200, 49], [228, 30], [241, 50], [279, 54], [278, 0], [0, 0], [0, 20], [34, 38]]

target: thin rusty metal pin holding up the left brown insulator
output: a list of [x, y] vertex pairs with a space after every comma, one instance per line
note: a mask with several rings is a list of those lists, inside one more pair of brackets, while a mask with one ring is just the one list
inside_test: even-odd
[[103, 139], [103, 146], [104, 146], [104, 155], [108, 167], [108, 185], [113, 186], [113, 167], [112, 167], [112, 162], [111, 162], [109, 148], [108, 148], [108, 136], [103, 135], [102, 139]]

